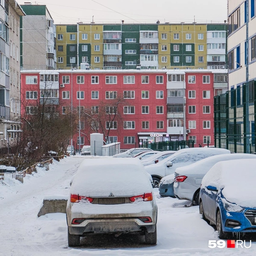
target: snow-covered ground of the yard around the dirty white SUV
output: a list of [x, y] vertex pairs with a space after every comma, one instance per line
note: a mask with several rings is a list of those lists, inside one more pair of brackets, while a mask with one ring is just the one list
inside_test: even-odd
[[[143, 244], [137, 236], [97, 235], [82, 238], [81, 246], [67, 247], [67, 223], [63, 213], [37, 217], [44, 197], [68, 195], [71, 177], [85, 157], [54, 161], [49, 171], [26, 175], [21, 184], [14, 179], [0, 181], [0, 256], [247, 256], [256, 255], [256, 242], [246, 248], [208, 247], [218, 234], [199, 215], [198, 207], [183, 207], [189, 201], [160, 198], [157, 245]], [[248, 244], [247, 244], [248, 246]]]

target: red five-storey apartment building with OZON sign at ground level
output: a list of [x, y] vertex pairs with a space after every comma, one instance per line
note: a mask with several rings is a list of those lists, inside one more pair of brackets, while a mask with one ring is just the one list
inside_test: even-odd
[[[79, 102], [83, 111], [124, 97], [109, 143], [128, 149], [143, 141], [183, 140], [185, 120], [186, 140], [214, 145], [213, 97], [227, 90], [226, 78], [226, 70], [23, 70], [21, 113], [33, 113], [41, 90], [61, 114], [67, 106], [77, 109]], [[93, 132], [81, 125], [82, 145], [89, 145], [84, 135], [90, 138]], [[79, 132], [72, 140], [79, 143]]]

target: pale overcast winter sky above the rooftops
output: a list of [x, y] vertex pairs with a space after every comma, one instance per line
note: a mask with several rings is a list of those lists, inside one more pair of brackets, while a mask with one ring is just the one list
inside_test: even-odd
[[[24, 2], [17, 0], [20, 5]], [[226, 0], [40, 0], [55, 24], [90, 23], [223, 23]]]

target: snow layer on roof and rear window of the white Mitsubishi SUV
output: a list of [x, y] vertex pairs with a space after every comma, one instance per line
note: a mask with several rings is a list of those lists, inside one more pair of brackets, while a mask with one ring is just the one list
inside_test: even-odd
[[134, 196], [152, 191], [143, 164], [136, 158], [85, 159], [70, 192], [88, 197]]

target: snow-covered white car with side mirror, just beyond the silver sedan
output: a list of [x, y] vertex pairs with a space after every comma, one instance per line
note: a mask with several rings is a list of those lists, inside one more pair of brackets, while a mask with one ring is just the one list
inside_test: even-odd
[[230, 151], [223, 148], [183, 148], [157, 164], [145, 166], [145, 170], [151, 174], [154, 187], [159, 187], [160, 180], [167, 175], [175, 173], [177, 167], [187, 166], [216, 154], [228, 153]]

